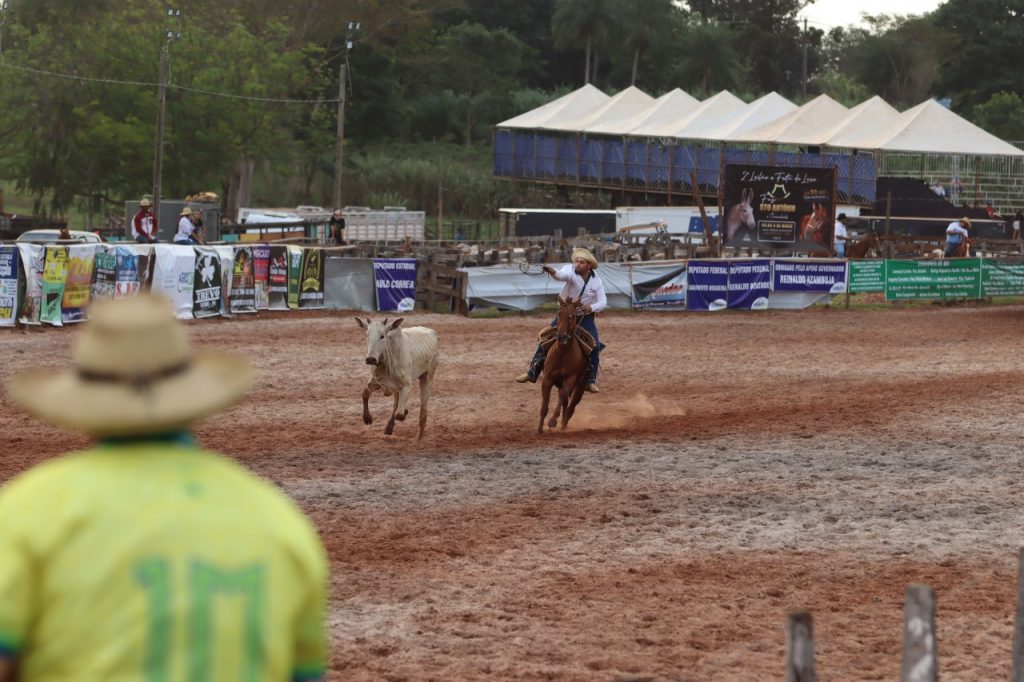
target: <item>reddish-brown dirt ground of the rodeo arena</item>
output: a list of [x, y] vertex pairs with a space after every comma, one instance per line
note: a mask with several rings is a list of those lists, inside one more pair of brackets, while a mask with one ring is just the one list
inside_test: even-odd
[[[781, 680], [804, 609], [819, 679], [898, 679], [909, 583], [944, 680], [1010, 677], [1024, 306], [607, 313], [602, 392], [538, 436], [512, 379], [547, 319], [411, 315], [442, 347], [421, 442], [380, 394], [362, 424], [350, 313], [189, 325], [259, 368], [199, 435], [315, 520], [332, 680]], [[0, 332], [2, 373], [73, 336]], [[0, 428], [0, 479], [85, 444], [6, 398]]]

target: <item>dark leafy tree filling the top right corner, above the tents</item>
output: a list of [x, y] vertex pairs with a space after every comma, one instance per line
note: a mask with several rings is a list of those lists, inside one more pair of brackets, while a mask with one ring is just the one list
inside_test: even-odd
[[1024, 94], [1016, 58], [1024, 45], [1024, 3], [947, 0], [932, 16], [956, 36], [936, 46], [943, 57], [937, 89], [952, 97], [954, 108], [968, 111], [997, 92]]

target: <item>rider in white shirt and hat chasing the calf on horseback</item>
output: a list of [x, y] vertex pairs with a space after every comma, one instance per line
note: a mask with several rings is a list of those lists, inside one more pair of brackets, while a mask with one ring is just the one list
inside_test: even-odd
[[[561, 298], [580, 299], [580, 307], [577, 314], [580, 315], [580, 327], [590, 332], [594, 337], [594, 350], [590, 353], [587, 364], [587, 391], [591, 393], [599, 392], [597, 386], [597, 373], [600, 369], [601, 341], [597, 336], [597, 323], [594, 314], [600, 312], [608, 305], [608, 299], [604, 294], [604, 282], [598, 276], [597, 258], [587, 249], [573, 249], [572, 262], [563, 265], [560, 269], [555, 269], [550, 265], [544, 266], [553, 280], [563, 282]], [[558, 316], [551, 322], [551, 326], [558, 324]], [[537, 378], [544, 371], [544, 360], [547, 357], [547, 349], [541, 344], [537, 344], [537, 351], [529, 361], [529, 369], [516, 377], [516, 381], [524, 384], [537, 382]]]

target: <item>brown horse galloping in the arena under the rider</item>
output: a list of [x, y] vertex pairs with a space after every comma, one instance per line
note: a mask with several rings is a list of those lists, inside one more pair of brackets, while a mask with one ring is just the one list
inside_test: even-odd
[[561, 414], [564, 430], [583, 397], [587, 355], [577, 336], [580, 318], [577, 317], [575, 311], [579, 305], [579, 300], [558, 298], [557, 337], [544, 360], [544, 380], [541, 382], [541, 423], [537, 427], [538, 433], [544, 433], [544, 419], [548, 416], [552, 387], [558, 388], [558, 404], [551, 421], [548, 422], [549, 427], [554, 428], [558, 423], [558, 415]]

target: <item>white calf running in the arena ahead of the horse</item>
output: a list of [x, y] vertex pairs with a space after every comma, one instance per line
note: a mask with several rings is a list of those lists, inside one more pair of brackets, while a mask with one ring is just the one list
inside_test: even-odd
[[384, 433], [394, 432], [394, 421], [403, 421], [409, 410], [409, 391], [413, 380], [420, 380], [420, 432], [417, 438], [423, 437], [427, 428], [427, 401], [430, 399], [430, 384], [437, 370], [437, 332], [426, 327], [410, 327], [402, 330], [404, 318], [398, 317], [390, 325], [387, 317], [384, 322], [374, 322], [355, 318], [359, 327], [367, 330], [367, 365], [373, 366], [370, 381], [362, 389], [362, 422], [373, 424], [370, 415], [370, 394], [378, 388], [384, 389], [385, 395], [394, 395], [394, 406], [391, 409], [391, 419], [388, 420]]

